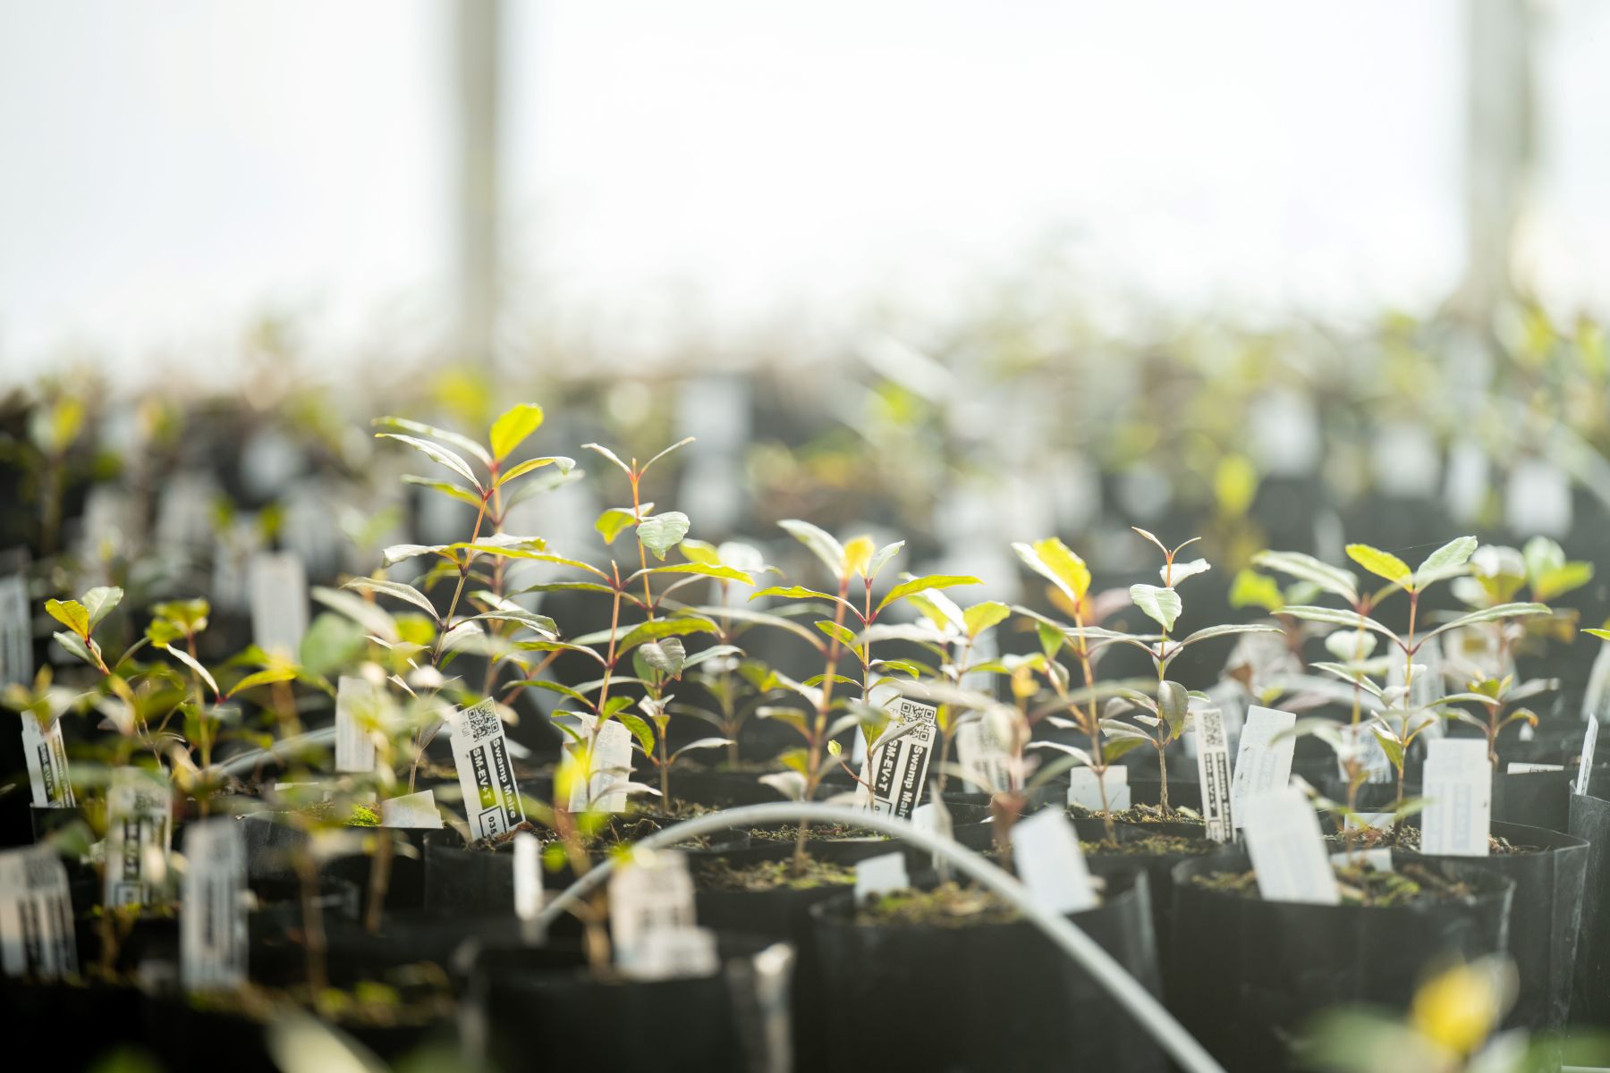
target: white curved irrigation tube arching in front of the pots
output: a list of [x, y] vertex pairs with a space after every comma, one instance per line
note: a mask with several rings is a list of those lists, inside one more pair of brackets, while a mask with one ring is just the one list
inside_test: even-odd
[[[1006, 901], [1013, 902], [1024, 917], [1045, 931], [1063, 952], [1079, 962], [1108, 993], [1117, 999], [1119, 1005], [1129, 1010], [1141, 1028], [1151, 1033], [1153, 1039], [1167, 1050], [1175, 1062], [1188, 1073], [1225, 1073], [1224, 1067], [1208, 1054], [1185, 1028], [1174, 1020], [1158, 999], [1146, 991], [1140, 981], [1130, 976], [1122, 965], [1096, 944], [1088, 935], [1080, 931], [1067, 917], [1042, 909], [1029, 898], [1027, 888], [1016, 878], [990, 864], [982, 854], [958, 845], [950, 838], [931, 835], [918, 830], [908, 820], [874, 816], [842, 804], [819, 804], [799, 801], [776, 801], [773, 804], [745, 804], [724, 812], [712, 812], [697, 819], [673, 824], [647, 838], [633, 843], [636, 849], [667, 849], [678, 841], [694, 835], [705, 835], [731, 827], [749, 827], [753, 824], [774, 824], [779, 820], [807, 820], [813, 824], [848, 824], [902, 838], [918, 849], [937, 853], [948, 857], [956, 867], [971, 875], [980, 885], [990, 888]], [[588, 891], [602, 883], [615, 867], [615, 859], [607, 857], [592, 865], [586, 875], [567, 886], [557, 898], [543, 906], [533, 920], [538, 935], [547, 931], [547, 925], [559, 919], [570, 906], [581, 901]]]

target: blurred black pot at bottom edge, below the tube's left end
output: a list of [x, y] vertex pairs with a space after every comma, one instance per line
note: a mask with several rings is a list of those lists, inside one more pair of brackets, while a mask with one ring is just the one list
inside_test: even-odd
[[[786, 1046], [787, 1012], [757, 985], [755, 957], [765, 946], [721, 936], [721, 972], [657, 981], [594, 976], [573, 948], [472, 948], [464, 996], [470, 1068], [778, 1068], [770, 1047]], [[615, 1030], [589, 1028], [601, 1010]]]

